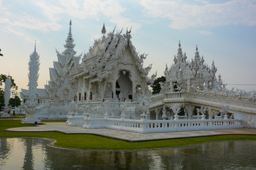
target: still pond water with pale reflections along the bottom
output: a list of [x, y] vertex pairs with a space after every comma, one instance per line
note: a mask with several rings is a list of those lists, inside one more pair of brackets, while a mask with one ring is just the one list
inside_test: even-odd
[[256, 169], [256, 141], [210, 142], [140, 151], [48, 147], [38, 138], [0, 138], [0, 169]]

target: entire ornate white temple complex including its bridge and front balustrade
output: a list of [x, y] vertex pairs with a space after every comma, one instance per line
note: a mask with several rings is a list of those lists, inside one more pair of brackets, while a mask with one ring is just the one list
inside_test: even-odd
[[[133, 132], [171, 132], [223, 128], [256, 128], [256, 93], [225, 88], [217, 69], [199, 55], [189, 62], [181, 43], [174, 64], [166, 66], [160, 94], [151, 95], [144, 67], [146, 55], [136, 51], [131, 31], [106, 33], [85, 55], [75, 56], [71, 21], [65, 50], [56, 50], [58, 62], [50, 81], [37, 89], [41, 119], [67, 119], [68, 125]], [[80, 62], [80, 58], [82, 61]], [[28, 93], [21, 90], [26, 103]]]

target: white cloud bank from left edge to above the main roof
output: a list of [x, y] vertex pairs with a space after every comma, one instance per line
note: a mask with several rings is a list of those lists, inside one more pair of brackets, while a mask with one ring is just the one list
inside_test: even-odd
[[62, 26], [58, 22], [63, 14], [80, 19], [95, 18], [97, 20], [106, 17], [120, 28], [130, 28], [131, 26], [133, 30], [140, 28], [140, 24], [133, 22], [132, 18], [122, 16], [126, 9], [117, 0], [31, 0], [26, 6], [38, 9], [38, 12], [16, 11], [15, 8], [18, 6], [15, 1], [0, 0], [0, 23], [5, 24], [5, 28], [1, 30], [18, 35], [22, 34], [19, 28], [40, 30], [41, 32], [60, 30]]

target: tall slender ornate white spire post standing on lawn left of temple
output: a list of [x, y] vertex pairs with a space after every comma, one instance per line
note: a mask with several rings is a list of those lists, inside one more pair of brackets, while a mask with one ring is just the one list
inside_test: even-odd
[[28, 62], [28, 100], [26, 102], [26, 118], [21, 120], [22, 123], [41, 123], [41, 120], [35, 117], [36, 106], [38, 101], [36, 98], [36, 87], [38, 86], [39, 71], [39, 55], [36, 52], [36, 40], [34, 52], [30, 55]]

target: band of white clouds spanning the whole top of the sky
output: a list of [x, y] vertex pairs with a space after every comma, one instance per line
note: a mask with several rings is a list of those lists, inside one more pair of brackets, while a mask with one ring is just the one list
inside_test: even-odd
[[[35, 8], [31, 11], [16, 11], [16, 3], [20, 0], [0, 0], [0, 24], [4, 23], [1, 30], [9, 33], [22, 34], [19, 28], [30, 30], [60, 30], [60, 20], [63, 16], [72, 18], [92, 18], [99, 20], [106, 17], [110, 22], [117, 24], [118, 28], [141, 28], [142, 17], [132, 18], [127, 16], [129, 12], [137, 11], [133, 6], [124, 6], [118, 0], [41, 0], [26, 1], [27, 8]], [[123, 2], [123, 1], [122, 1]], [[125, 2], [125, 1], [124, 1]], [[214, 1], [213, 1], [214, 2]], [[205, 0], [177, 1], [177, 0], [141, 0], [132, 4], [142, 8], [144, 16], [152, 18], [164, 18], [170, 21], [170, 27], [174, 29], [200, 28], [198, 33], [210, 35], [208, 28], [229, 25], [256, 26], [256, 1], [255, 0], [230, 0], [223, 3], [211, 4]], [[25, 6], [25, 4], [24, 4]], [[139, 8], [138, 8], [139, 6]], [[25, 10], [26, 8], [24, 8]]]

